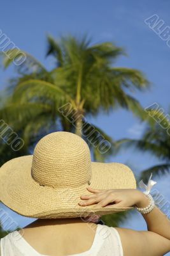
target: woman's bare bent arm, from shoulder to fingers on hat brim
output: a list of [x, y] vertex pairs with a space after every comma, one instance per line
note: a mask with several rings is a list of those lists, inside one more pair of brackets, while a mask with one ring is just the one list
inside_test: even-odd
[[[91, 195], [81, 196], [80, 205], [97, 204], [102, 207], [146, 207], [148, 198], [138, 189], [96, 190], [88, 188]], [[108, 205], [113, 203], [113, 205]], [[170, 252], [170, 221], [156, 206], [143, 214], [148, 231], [117, 228], [122, 241], [124, 256], [162, 256]]]

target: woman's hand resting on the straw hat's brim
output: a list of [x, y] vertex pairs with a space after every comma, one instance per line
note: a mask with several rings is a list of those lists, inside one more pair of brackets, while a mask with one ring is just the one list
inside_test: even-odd
[[[146, 196], [138, 189], [93, 189], [87, 188], [91, 195], [82, 195], [79, 205], [96, 204], [97, 207], [132, 207], [133, 205], [147, 206]], [[144, 200], [145, 198], [145, 200]], [[142, 204], [142, 202], [145, 202]]]

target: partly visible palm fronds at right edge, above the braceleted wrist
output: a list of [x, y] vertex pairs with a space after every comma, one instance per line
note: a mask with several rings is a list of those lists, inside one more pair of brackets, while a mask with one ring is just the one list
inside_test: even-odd
[[145, 131], [141, 139], [131, 140], [125, 138], [117, 141], [119, 148], [121, 147], [135, 147], [141, 152], [148, 152], [159, 159], [160, 164], [150, 166], [146, 170], [141, 170], [139, 179], [145, 182], [153, 173], [153, 177], [162, 176], [170, 171], [170, 122], [169, 115], [164, 115], [161, 108], [147, 108], [148, 113]]

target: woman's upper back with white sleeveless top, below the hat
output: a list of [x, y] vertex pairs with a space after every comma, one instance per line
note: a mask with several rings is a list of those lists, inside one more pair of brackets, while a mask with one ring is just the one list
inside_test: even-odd
[[69, 223], [45, 228], [34, 225], [23, 231], [1, 239], [1, 256], [123, 255], [117, 230], [105, 225]]

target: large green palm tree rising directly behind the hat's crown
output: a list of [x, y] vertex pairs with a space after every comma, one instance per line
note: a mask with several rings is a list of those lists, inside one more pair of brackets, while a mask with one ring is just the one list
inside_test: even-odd
[[[113, 67], [115, 60], [125, 54], [122, 48], [111, 42], [92, 45], [85, 37], [79, 40], [67, 36], [55, 41], [48, 36], [47, 56], [52, 55], [56, 61], [50, 72], [25, 54], [27, 60], [19, 67], [20, 76], [11, 81], [13, 97], [0, 111], [6, 122], [23, 130], [25, 141], [30, 141], [30, 134], [41, 136], [53, 129], [75, 132], [87, 140], [85, 132], [93, 130], [92, 140], [109, 147], [107, 154], [112, 154], [114, 141], [96, 125], [89, 124], [86, 117], [120, 107], [145, 120], [146, 113], [131, 92], [145, 90], [148, 81], [139, 70]], [[4, 55], [4, 67], [11, 63], [12, 59]], [[68, 104], [71, 111], [65, 108]], [[107, 156], [94, 147], [95, 143], [87, 143], [95, 159]]]

